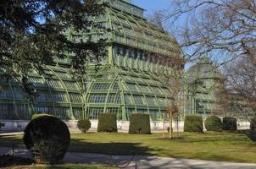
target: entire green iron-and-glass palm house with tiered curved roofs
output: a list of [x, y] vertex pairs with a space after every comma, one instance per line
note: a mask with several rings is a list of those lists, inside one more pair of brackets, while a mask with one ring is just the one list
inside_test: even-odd
[[[149, 23], [143, 13], [130, 1], [110, 1], [105, 15], [97, 19], [111, 30], [107, 35], [108, 55], [102, 58], [98, 71], [93, 65], [89, 68], [85, 92], [72, 78], [68, 58], [48, 65], [47, 74], [29, 74], [29, 87], [36, 92], [32, 100], [16, 79], [1, 76], [0, 119], [28, 120], [34, 113], [49, 113], [65, 120], [97, 119], [100, 113], [109, 112], [124, 121], [132, 113], [146, 113], [153, 121], [161, 120], [172, 96], [171, 86], [164, 84], [158, 73], [171, 70], [163, 58], [182, 57], [181, 49], [172, 35]], [[189, 69], [186, 85], [194, 84], [193, 78], [209, 67], [209, 63], [201, 62]], [[182, 113], [214, 112], [214, 94], [209, 86], [219, 78], [215, 75], [203, 72], [200, 87], [188, 88]]]

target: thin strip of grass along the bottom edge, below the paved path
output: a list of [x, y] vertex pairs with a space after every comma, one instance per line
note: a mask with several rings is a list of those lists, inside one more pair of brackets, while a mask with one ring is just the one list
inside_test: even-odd
[[13, 169], [114, 169], [114, 167], [91, 164], [64, 164], [64, 165], [31, 165], [12, 166]]

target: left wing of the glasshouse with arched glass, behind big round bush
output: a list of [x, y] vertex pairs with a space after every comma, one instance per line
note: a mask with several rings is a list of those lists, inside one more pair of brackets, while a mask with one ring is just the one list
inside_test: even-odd
[[31, 73], [28, 85], [36, 95], [29, 100], [23, 85], [1, 76], [0, 119], [31, 119], [33, 113], [48, 113], [62, 119], [85, 117], [79, 84], [68, 68], [47, 66], [44, 75]]

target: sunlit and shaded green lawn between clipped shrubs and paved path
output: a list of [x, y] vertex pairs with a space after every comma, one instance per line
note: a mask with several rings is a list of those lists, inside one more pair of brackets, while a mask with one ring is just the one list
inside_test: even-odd
[[[11, 143], [15, 146], [23, 146], [21, 137], [20, 135], [2, 136], [0, 146], [10, 146]], [[175, 134], [175, 139], [172, 140], [161, 138], [162, 134], [71, 134], [69, 151], [256, 162], [256, 134], [249, 131], [180, 133], [179, 138]]]

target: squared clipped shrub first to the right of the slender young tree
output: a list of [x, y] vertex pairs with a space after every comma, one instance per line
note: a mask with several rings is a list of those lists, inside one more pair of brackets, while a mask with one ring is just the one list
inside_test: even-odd
[[186, 116], [184, 121], [184, 132], [203, 133], [203, 117]]

